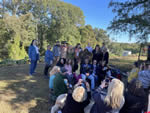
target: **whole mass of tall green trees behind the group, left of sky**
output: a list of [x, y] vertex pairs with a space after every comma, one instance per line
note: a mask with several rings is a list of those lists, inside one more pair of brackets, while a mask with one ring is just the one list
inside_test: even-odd
[[38, 39], [41, 55], [48, 44], [67, 41], [83, 47], [110, 43], [106, 31], [84, 25], [83, 11], [61, 0], [0, 1], [0, 59], [24, 59], [33, 39]]

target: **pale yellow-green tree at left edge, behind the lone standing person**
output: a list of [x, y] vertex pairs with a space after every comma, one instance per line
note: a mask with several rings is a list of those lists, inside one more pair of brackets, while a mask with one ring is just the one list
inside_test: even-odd
[[16, 17], [5, 15], [0, 19], [1, 58], [23, 59], [27, 56], [25, 47], [35, 37], [32, 14]]

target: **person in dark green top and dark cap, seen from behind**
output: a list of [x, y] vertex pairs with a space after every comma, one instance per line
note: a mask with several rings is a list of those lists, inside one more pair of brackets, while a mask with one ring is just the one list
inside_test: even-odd
[[54, 81], [53, 81], [53, 90], [54, 95], [58, 97], [60, 94], [67, 93], [67, 85], [65, 84], [64, 79], [66, 79], [67, 69], [64, 67], [61, 68], [61, 72], [57, 73], [55, 75]]

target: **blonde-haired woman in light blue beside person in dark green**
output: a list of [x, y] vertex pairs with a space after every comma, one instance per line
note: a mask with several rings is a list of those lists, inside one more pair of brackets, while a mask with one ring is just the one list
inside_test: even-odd
[[50, 78], [49, 78], [49, 88], [53, 89], [53, 80], [55, 78], [55, 74], [60, 72], [60, 68], [58, 66], [54, 66], [53, 69], [50, 71]]

